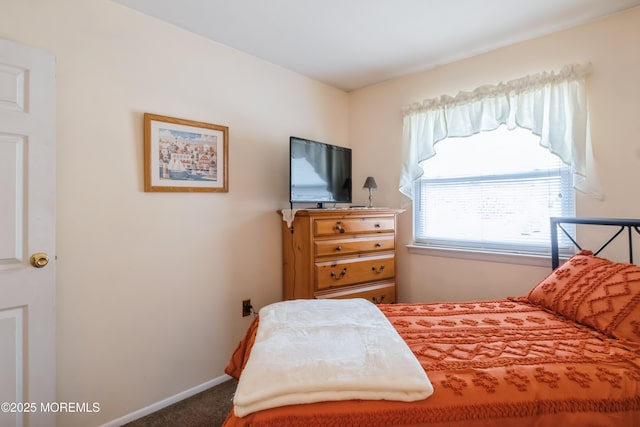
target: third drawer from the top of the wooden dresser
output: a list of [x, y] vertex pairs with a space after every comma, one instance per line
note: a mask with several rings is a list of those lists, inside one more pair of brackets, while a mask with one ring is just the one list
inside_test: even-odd
[[316, 262], [316, 289], [374, 282], [395, 276], [394, 255]]

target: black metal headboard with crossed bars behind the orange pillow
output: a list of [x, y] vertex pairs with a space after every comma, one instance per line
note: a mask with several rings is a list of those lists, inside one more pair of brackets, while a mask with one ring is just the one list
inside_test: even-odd
[[578, 250], [582, 247], [575, 241], [569, 232], [562, 227], [563, 224], [591, 224], [591, 225], [611, 225], [618, 227], [618, 230], [600, 246], [594, 250], [593, 254], [598, 255], [604, 248], [609, 245], [620, 233], [627, 230], [627, 239], [629, 243], [629, 263], [633, 264], [633, 240], [632, 230], [640, 234], [640, 219], [615, 219], [615, 218], [565, 218], [551, 217], [551, 267], [555, 270], [560, 265], [560, 253], [558, 250], [558, 229], [560, 229], [573, 242]]

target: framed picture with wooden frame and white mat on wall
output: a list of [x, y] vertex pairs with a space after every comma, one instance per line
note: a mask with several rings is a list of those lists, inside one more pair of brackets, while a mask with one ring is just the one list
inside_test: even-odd
[[229, 128], [144, 114], [144, 191], [229, 191]]

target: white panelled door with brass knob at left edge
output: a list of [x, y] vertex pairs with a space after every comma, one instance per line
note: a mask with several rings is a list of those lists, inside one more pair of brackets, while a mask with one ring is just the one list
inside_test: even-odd
[[55, 59], [0, 39], [0, 426], [55, 425], [55, 159]]

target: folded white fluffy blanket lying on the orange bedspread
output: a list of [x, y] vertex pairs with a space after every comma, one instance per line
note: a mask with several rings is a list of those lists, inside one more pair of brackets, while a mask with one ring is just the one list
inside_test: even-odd
[[277, 406], [429, 397], [424, 369], [386, 316], [364, 299], [263, 307], [234, 397], [236, 416]]

